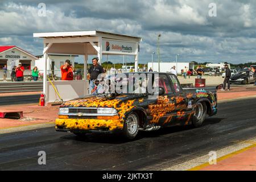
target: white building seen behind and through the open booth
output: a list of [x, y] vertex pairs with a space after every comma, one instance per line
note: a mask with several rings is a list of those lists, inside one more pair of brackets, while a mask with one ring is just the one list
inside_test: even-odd
[[[40, 73], [43, 73], [44, 59], [43, 55], [36, 56], [38, 60], [35, 61], [36, 67], [38, 67]], [[49, 54], [47, 59], [47, 74], [49, 71], [53, 72], [57, 77], [61, 77], [60, 67], [65, 63], [65, 60], [70, 60], [72, 65], [75, 65], [75, 57], [77, 55], [53, 55]]]

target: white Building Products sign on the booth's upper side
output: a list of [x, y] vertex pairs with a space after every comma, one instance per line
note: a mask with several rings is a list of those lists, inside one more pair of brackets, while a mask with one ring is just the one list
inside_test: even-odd
[[135, 55], [136, 43], [103, 39], [102, 53], [113, 53], [113, 54], [130, 53], [131, 55]]

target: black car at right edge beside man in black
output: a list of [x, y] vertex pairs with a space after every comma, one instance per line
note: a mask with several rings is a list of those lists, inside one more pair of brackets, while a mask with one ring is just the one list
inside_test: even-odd
[[249, 69], [240, 69], [230, 77], [231, 84], [250, 84], [255, 82], [255, 73]]

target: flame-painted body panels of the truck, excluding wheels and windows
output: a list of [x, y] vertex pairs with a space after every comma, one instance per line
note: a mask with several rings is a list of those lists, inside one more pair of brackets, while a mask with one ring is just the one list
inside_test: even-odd
[[[179, 94], [158, 96], [153, 102], [145, 94], [120, 94], [107, 98], [104, 96], [87, 96], [65, 102], [61, 107], [114, 107], [119, 119], [56, 119], [56, 129], [98, 130], [107, 128], [109, 131], [122, 130], [125, 115], [130, 111], [140, 110], [145, 114], [143, 129], [147, 126], [188, 125], [194, 115], [194, 107], [198, 101], [208, 102], [208, 114], [217, 113], [216, 89], [184, 89]], [[188, 104], [189, 103], [189, 104]], [[141, 118], [140, 118], [141, 119]]]

